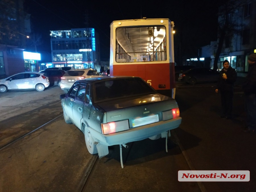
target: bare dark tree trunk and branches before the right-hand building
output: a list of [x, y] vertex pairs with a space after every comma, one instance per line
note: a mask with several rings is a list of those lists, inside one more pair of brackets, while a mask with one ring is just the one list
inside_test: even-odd
[[242, 23], [238, 23], [238, 19], [242, 18], [243, 4], [247, 0], [226, 0], [219, 7], [218, 12], [218, 48], [215, 53], [213, 70], [218, 69], [218, 60], [226, 40], [231, 40], [234, 35], [242, 34]]

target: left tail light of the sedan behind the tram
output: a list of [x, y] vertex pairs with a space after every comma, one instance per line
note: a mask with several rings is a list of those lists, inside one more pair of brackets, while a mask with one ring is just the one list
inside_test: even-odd
[[124, 121], [113, 121], [109, 123], [102, 123], [101, 124], [102, 133], [104, 135], [125, 131], [129, 129], [129, 122], [128, 119]]

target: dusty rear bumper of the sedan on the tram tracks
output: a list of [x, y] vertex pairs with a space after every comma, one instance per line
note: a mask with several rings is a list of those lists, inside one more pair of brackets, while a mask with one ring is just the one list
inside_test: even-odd
[[140, 141], [154, 135], [158, 135], [162, 132], [175, 129], [181, 124], [181, 119], [181, 117], [178, 117], [167, 121], [159, 121], [153, 124], [144, 125], [141, 127], [129, 129], [127, 131], [112, 133], [108, 135], [103, 135], [91, 127], [88, 127], [88, 129], [96, 142], [103, 145], [112, 146], [133, 141]]

